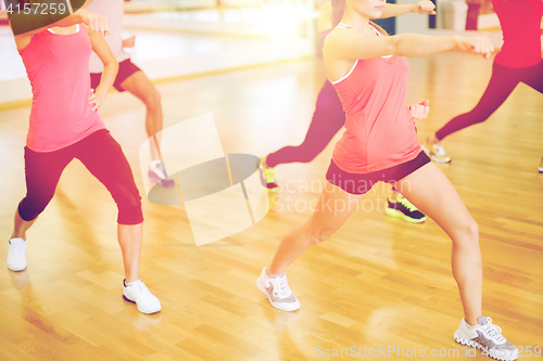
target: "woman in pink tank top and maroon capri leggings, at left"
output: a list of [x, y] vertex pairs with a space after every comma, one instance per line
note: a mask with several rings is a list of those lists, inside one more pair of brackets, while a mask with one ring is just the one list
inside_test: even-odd
[[[12, 28], [23, 22], [36, 23], [33, 17], [36, 15], [24, 16], [23, 13], [12, 16]], [[26, 269], [26, 231], [53, 197], [64, 168], [78, 158], [108, 188], [117, 204], [117, 234], [126, 276], [123, 296], [135, 302], [139, 311], [154, 313], [161, 310], [161, 304], [139, 280], [141, 197], [121, 145], [97, 112], [118, 69], [101, 34], [108, 31], [104, 16], [81, 9], [49, 27], [15, 36], [33, 88], [33, 106], [25, 146], [27, 192], [15, 211], [8, 268]], [[91, 51], [104, 63], [96, 93], [90, 89]]]

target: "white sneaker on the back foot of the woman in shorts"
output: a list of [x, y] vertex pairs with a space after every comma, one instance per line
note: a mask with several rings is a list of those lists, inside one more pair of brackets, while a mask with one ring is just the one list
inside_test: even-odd
[[256, 287], [268, 296], [272, 306], [288, 312], [300, 309], [300, 301], [292, 295], [287, 275], [283, 273], [278, 278], [269, 278], [266, 270], [267, 267], [262, 270]]

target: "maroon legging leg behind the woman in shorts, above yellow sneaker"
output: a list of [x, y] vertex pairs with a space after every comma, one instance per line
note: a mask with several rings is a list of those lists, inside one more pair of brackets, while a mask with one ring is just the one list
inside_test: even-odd
[[305, 140], [298, 146], [286, 146], [269, 154], [266, 164], [275, 167], [286, 163], [310, 163], [330, 143], [345, 125], [345, 112], [336, 88], [326, 81], [317, 96], [317, 105]]

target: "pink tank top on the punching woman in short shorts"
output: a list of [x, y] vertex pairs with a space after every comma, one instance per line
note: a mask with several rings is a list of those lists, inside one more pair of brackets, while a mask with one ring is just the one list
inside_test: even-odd
[[406, 163], [420, 153], [407, 108], [408, 75], [407, 60], [389, 55], [358, 60], [345, 76], [332, 81], [346, 114], [346, 131], [332, 154], [340, 169], [368, 173]]

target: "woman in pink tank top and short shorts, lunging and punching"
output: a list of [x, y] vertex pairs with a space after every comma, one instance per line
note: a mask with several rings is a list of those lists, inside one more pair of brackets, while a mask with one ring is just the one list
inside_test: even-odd
[[[459, 49], [489, 57], [487, 37], [383, 36], [370, 23], [383, 0], [332, 0], [334, 30], [325, 41], [327, 76], [346, 114], [343, 137], [336, 144], [325, 186], [311, 219], [282, 240], [269, 267], [256, 281], [272, 305], [300, 308], [285, 270], [310, 246], [330, 237], [357, 208], [362, 195], [379, 181], [392, 183], [432, 218], [453, 241], [452, 267], [464, 306], [455, 332], [458, 343], [488, 347], [502, 360], [518, 357], [515, 346], [482, 315], [482, 263], [478, 225], [443, 172], [421, 151], [414, 117], [425, 118], [428, 103], [406, 105], [409, 65], [404, 56], [424, 56]], [[439, 325], [435, 325], [439, 327]]]

